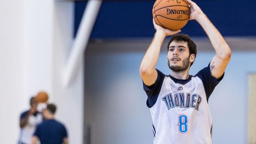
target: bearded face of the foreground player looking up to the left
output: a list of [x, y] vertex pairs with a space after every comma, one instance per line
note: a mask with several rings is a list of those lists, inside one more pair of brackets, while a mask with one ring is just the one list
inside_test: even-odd
[[187, 42], [172, 41], [169, 45], [167, 62], [171, 70], [187, 70], [190, 66], [190, 55]]

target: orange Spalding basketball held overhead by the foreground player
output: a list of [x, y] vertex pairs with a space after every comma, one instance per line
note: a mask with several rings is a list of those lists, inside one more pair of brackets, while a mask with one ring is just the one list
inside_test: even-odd
[[190, 7], [186, 0], [156, 0], [152, 13], [159, 26], [170, 30], [179, 30], [189, 20]]

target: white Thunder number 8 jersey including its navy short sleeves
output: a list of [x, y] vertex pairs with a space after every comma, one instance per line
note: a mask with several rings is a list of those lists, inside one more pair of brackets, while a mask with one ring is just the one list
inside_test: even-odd
[[208, 98], [224, 74], [217, 80], [209, 65], [187, 80], [157, 72], [155, 84], [144, 84], [154, 144], [212, 144]]

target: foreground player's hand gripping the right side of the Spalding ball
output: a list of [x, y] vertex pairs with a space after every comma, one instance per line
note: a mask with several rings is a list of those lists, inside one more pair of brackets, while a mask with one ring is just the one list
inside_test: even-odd
[[192, 2], [192, 0], [186, 0], [190, 6], [190, 20], [197, 20], [199, 16], [202, 16], [204, 12], [199, 8], [199, 6]]

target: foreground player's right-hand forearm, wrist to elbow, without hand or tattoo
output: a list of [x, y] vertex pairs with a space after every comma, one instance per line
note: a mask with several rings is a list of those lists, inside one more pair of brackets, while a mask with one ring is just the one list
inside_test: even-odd
[[217, 56], [222, 59], [230, 58], [231, 50], [228, 44], [207, 16], [205, 14], [200, 14], [196, 20], [208, 35]]

